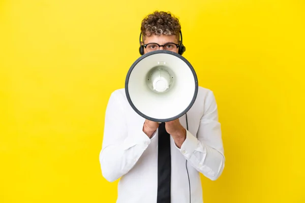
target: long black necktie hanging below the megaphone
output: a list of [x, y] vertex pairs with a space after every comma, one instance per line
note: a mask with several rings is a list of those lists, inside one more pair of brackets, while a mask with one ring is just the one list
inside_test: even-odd
[[157, 203], [170, 203], [171, 156], [170, 135], [165, 123], [158, 128], [158, 196]]

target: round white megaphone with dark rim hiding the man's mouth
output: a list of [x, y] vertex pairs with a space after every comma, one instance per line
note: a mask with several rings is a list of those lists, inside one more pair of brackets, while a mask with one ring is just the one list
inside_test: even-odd
[[168, 122], [180, 118], [193, 106], [198, 80], [185, 57], [157, 50], [140, 56], [131, 65], [125, 92], [137, 114], [147, 120]]

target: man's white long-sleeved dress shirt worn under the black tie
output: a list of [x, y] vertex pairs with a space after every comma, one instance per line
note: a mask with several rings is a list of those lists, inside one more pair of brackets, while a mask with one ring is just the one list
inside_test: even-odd
[[[187, 138], [180, 149], [171, 137], [172, 203], [190, 202], [189, 179], [191, 202], [203, 202], [200, 173], [216, 180], [225, 165], [221, 126], [212, 91], [199, 87], [187, 118]], [[149, 139], [142, 131], [144, 121], [129, 105], [125, 89], [111, 94], [99, 158], [106, 180], [113, 182], [120, 178], [117, 203], [157, 202], [158, 130]], [[186, 116], [179, 121], [187, 129]]]

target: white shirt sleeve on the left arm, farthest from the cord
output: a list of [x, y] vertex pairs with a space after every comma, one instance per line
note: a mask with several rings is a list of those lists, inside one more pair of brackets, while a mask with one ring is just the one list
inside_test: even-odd
[[128, 131], [121, 100], [124, 100], [123, 94], [114, 91], [110, 95], [105, 113], [103, 144], [99, 159], [102, 175], [109, 182], [127, 174], [151, 139], [156, 137], [155, 132], [149, 139], [142, 126], [135, 131]]

